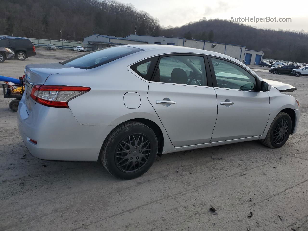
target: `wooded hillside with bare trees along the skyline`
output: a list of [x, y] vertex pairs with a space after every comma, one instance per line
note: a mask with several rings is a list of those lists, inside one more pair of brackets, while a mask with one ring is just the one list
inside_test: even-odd
[[308, 34], [257, 29], [225, 20], [161, 28], [131, 4], [109, 0], [0, 0], [0, 34], [80, 41], [87, 35], [135, 33], [208, 40], [264, 51], [265, 58], [308, 63]]

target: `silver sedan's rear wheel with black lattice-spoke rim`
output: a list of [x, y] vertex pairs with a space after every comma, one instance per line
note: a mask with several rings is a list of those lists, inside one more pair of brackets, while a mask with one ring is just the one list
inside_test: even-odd
[[129, 121], [107, 137], [100, 159], [111, 175], [129, 180], [148, 171], [157, 151], [158, 141], [152, 129], [145, 124]]

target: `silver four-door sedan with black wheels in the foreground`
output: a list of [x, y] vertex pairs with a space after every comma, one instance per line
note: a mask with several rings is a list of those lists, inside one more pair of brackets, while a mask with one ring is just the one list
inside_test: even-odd
[[296, 132], [295, 87], [261, 79], [227, 55], [134, 44], [61, 63], [27, 65], [18, 128], [45, 160], [97, 161], [132, 179], [156, 155], [261, 140], [279, 148]]

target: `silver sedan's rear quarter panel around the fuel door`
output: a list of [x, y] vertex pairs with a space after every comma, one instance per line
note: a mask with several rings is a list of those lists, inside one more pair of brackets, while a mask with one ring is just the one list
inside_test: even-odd
[[[174, 147], [147, 99], [149, 82], [128, 71], [128, 66], [132, 63], [134, 61], [130, 59], [118, 59], [116, 62], [113, 61], [93, 69], [85, 71], [80, 69], [80, 73], [74, 73], [74, 75], [69, 73], [54, 74], [44, 84], [91, 88], [91, 91], [70, 100], [68, 103], [80, 124], [118, 125], [137, 118], [148, 119], [156, 123], [163, 132], [164, 150], [172, 150]], [[137, 92], [140, 95], [140, 107], [128, 108], [125, 106], [124, 95], [127, 92]]]

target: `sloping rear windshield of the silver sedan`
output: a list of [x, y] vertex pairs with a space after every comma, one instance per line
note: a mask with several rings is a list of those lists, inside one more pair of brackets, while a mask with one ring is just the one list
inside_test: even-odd
[[85, 55], [80, 55], [72, 59], [68, 59], [60, 64], [69, 67], [77, 67], [89, 69], [109, 63], [115, 59], [143, 51], [142, 49], [127, 46], [106, 47], [100, 50], [91, 51]]

